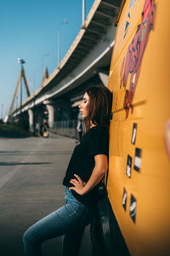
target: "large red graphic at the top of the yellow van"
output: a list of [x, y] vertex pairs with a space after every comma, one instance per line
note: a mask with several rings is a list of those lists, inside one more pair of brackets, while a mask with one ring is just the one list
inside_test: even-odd
[[[135, 3], [132, 0], [130, 3]], [[122, 72], [120, 73], [120, 88], [124, 87], [123, 108], [125, 109], [126, 119], [131, 108], [133, 113], [133, 98], [138, 86], [140, 69], [144, 58], [144, 51], [150, 39], [151, 31], [154, 30], [156, 20], [156, 0], [145, 0], [144, 9], [141, 13], [141, 22], [136, 27], [136, 32], [127, 45], [127, 53], [122, 61]], [[130, 15], [127, 16], [125, 23], [124, 37], [126, 36], [129, 27]], [[128, 78], [130, 76], [130, 79]], [[127, 90], [128, 87], [128, 90]]]

